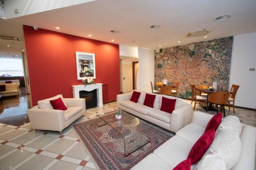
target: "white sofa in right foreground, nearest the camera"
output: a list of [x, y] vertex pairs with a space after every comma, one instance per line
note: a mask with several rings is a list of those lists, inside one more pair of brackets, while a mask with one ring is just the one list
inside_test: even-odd
[[[187, 159], [187, 156], [191, 148], [193, 147], [194, 143], [200, 138], [200, 136], [204, 133], [206, 125], [208, 124], [211, 117], [212, 115], [210, 114], [195, 111], [193, 113], [193, 118], [190, 124], [188, 124], [181, 130], [179, 130], [174, 137], [170, 138], [165, 143], [163, 143], [152, 154], [145, 157], [132, 169], [133, 170], [173, 169], [180, 162]], [[238, 162], [234, 166], [232, 166], [230, 169], [253, 170], [254, 163], [255, 163], [256, 128], [248, 125], [243, 125], [241, 129], [242, 129], [240, 134], [240, 140], [241, 140], [241, 146], [242, 146], [242, 149], [240, 152], [241, 154], [238, 155]], [[215, 139], [219, 135], [217, 131], [216, 131]], [[214, 142], [215, 142], [215, 139], [214, 139]], [[214, 142], [212, 142], [212, 144]], [[227, 142], [227, 144], [229, 144], [229, 141]], [[208, 151], [206, 151], [205, 155], [207, 155], [207, 152]], [[217, 152], [219, 152], [219, 150], [217, 150]], [[225, 153], [225, 157], [228, 154], [229, 153]], [[236, 157], [237, 155], [234, 154], [233, 156]], [[224, 161], [224, 166], [225, 164], [226, 163]], [[195, 166], [196, 164], [192, 165], [191, 169], [195, 169]], [[204, 169], [212, 169], [212, 168], [204, 168]], [[218, 168], [218, 169], [221, 170], [226, 168], [224, 167], [224, 168]]]

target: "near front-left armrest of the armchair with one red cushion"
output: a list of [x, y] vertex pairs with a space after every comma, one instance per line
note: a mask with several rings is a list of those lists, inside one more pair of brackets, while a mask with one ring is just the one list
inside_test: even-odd
[[32, 108], [28, 116], [33, 129], [62, 131], [66, 128], [63, 110]]

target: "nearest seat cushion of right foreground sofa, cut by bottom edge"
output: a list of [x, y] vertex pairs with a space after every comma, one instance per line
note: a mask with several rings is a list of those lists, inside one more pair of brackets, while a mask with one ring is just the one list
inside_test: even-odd
[[136, 164], [132, 170], [140, 170], [140, 169], [147, 169], [147, 170], [155, 170], [155, 169], [161, 169], [161, 170], [170, 170], [174, 167], [170, 166], [168, 163], [164, 162], [159, 156], [152, 153], [150, 155], [147, 155], [142, 161], [140, 161], [138, 164]]

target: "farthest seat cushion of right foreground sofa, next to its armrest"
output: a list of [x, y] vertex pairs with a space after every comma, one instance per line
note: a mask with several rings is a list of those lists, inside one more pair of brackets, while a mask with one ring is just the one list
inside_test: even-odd
[[176, 135], [179, 135], [187, 140], [189, 140], [192, 143], [196, 143], [196, 141], [204, 134], [205, 128], [190, 123], [178, 132], [176, 132]]

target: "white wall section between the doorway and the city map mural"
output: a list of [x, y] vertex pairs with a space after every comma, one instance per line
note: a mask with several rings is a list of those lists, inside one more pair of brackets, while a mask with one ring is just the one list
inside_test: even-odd
[[137, 76], [137, 89], [151, 92], [151, 84], [154, 83], [155, 52], [147, 48], [138, 48], [139, 70]]

